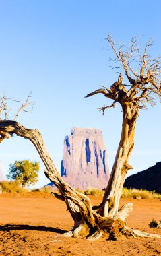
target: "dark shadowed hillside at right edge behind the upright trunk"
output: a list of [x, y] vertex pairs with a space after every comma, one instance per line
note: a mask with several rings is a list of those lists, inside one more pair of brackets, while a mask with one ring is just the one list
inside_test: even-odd
[[127, 189], [145, 189], [161, 193], [161, 162], [156, 165], [133, 174], [125, 180], [124, 187]]

